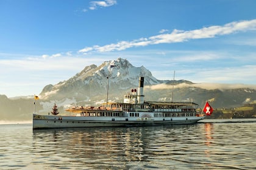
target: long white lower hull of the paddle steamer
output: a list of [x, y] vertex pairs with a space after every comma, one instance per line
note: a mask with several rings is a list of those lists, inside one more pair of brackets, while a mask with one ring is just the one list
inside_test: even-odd
[[33, 115], [33, 129], [67, 127], [157, 126], [162, 124], [193, 124], [204, 117], [130, 118], [130, 117], [73, 117]]

